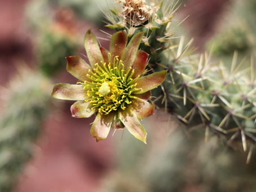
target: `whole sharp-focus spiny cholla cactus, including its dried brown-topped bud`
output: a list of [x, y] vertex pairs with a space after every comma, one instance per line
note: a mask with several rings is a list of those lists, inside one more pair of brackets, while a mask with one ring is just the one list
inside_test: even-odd
[[246, 151], [247, 141], [256, 141], [253, 58], [250, 65], [246, 60], [237, 63], [235, 53], [228, 69], [223, 62], [214, 61], [211, 53], [193, 54], [193, 40], [186, 45], [184, 37], [173, 41], [170, 22], [177, 7], [174, 1], [166, 1], [170, 6], [163, 6], [164, 1], [147, 5], [144, 1], [120, 2], [122, 7], [111, 10], [115, 17], [106, 13], [107, 27], [125, 29], [130, 37], [145, 31], [140, 48], [149, 54], [151, 67], [169, 71], [155, 102], [159, 106], [164, 103], [166, 111], [190, 128], [205, 128], [206, 140], [213, 133], [231, 145], [240, 137]]

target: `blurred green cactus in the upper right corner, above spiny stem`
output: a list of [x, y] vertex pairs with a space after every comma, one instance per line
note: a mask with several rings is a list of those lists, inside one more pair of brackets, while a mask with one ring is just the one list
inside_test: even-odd
[[235, 50], [244, 56], [252, 54], [256, 42], [254, 4], [253, 1], [233, 1], [227, 7], [219, 21], [217, 33], [207, 43], [208, 47], [214, 44], [213, 54], [231, 56]]

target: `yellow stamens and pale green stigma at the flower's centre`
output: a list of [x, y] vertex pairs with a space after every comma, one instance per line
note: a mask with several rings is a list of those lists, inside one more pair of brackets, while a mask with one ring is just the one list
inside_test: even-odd
[[107, 115], [118, 108], [124, 110], [127, 104], [132, 103], [131, 99], [136, 98], [132, 93], [139, 90], [137, 84], [133, 83], [138, 77], [132, 78], [134, 69], [131, 67], [125, 72], [124, 64], [118, 57], [115, 57], [113, 64], [106, 66], [106, 63], [101, 63], [103, 67], [96, 63], [96, 68], [87, 75], [92, 82], [84, 81], [81, 84], [89, 96], [85, 102], [92, 103], [92, 108], [98, 108], [98, 112]]

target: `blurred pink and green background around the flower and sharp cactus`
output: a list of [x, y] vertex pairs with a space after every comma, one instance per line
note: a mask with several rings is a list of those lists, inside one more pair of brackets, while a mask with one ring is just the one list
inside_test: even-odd
[[[168, 1], [168, 0], [166, 0]], [[229, 149], [204, 130], [186, 130], [162, 111], [147, 117], [147, 145], [127, 130], [96, 143], [94, 117], [71, 117], [73, 102], [51, 98], [57, 82], [76, 83], [65, 56], [85, 55], [92, 28], [101, 46], [105, 0], [0, 1], [0, 191], [256, 191], [255, 152]], [[255, 51], [254, 0], [183, 0], [177, 36], [218, 59]], [[102, 32], [102, 30], [104, 32]]]

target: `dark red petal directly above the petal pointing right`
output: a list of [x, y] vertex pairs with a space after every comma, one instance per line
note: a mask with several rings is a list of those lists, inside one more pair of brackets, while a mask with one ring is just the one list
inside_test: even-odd
[[134, 69], [134, 74], [132, 78], [136, 78], [138, 75], [142, 75], [142, 73], [145, 71], [148, 57], [149, 54], [147, 54], [145, 51], [138, 50], [136, 58], [132, 65], [132, 69]]

